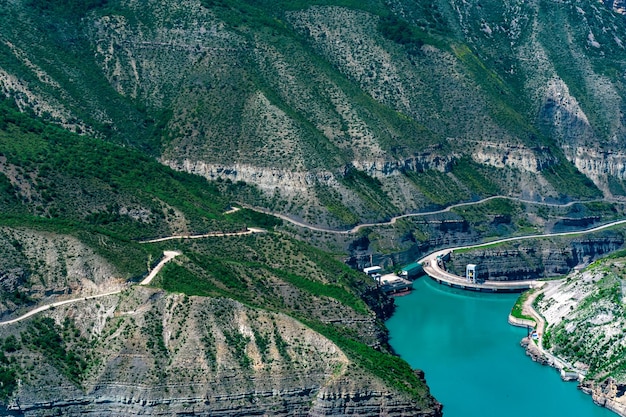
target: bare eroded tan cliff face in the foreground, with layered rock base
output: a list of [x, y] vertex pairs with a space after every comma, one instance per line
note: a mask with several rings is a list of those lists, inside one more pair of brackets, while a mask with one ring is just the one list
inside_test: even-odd
[[[8, 354], [24, 365], [7, 406], [21, 415], [437, 414], [297, 321], [230, 300], [135, 288], [46, 316], [0, 330], [21, 334]], [[49, 357], [43, 328], [85, 355], [85, 369], [74, 375], [71, 358]]]

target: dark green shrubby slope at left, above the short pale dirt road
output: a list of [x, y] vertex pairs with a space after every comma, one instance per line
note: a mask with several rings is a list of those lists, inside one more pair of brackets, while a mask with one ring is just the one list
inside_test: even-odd
[[222, 214], [228, 202], [218, 187], [202, 178], [42, 123], [6, 101], [0, 118], [5, 224], [48, 219], [134, 240], [241, 228], [237, 216]]

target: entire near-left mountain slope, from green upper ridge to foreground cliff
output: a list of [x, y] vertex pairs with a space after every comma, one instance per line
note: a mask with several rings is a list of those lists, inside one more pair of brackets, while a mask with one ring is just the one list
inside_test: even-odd
[[[392, 303], [336, 255], [274, 232], [279, 220], [225, 214], [244, 186], [6, 101], [0, 115], [3, 413], [441, 415], [390, 352]], [[266, 231], [233, 234], [248, 226]], [[155, 286], [137, 285], [168, 249], [181, 254]]]

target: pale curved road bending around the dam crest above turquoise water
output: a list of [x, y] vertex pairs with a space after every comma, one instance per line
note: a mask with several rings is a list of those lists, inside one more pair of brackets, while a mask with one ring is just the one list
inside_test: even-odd
[[479, 243], [476, 245], [467, 245], [467, 246], [458, 246], [453, 248], [441, 249], [436, 252], [431, 253], [420, 259], [418, 262], [422, 264], [424, 267], [424, 272], [435, 279], [438, 282], [445, 283], [447, 285], [477, 290], [477, 291], [521, 291], [528, 288], [533, 288], [537, 286], [543, 285], [541, 281], [537, 280], [528, 280], [528, 281], [484, 281], [482, 283], [472, 283], [468, 282], [465, 277], [460, 277], [458, 275], [452, 274], [448, 271], [445, 271], [437, 262], [438, 257], [445, 257], [448, 254], [451, 254], [455, 250], [465, 250], [465, 249], [479, 249], [487, 246], [498, 245], [501, 243], [507, 242], [515, 242], [519, 240], [528, 240], [528, 239], [541, 239], [541, 238], [549, 238], [549, 237], [564, 237], [564, 236], [575, 236], [582, 235], [588, 233], [599, 232], [604, 229], [608, 229], [615, 226], [620, 226], [626, 224], [626, 220], [618, 220], [611, 223], [604, 224], [602, 226], [592, 227], [590, 229], [579, 230], [575, 232], [561, 232], [561, 233], [546, 233], [546, 234], [538, 234], [538, 235], [526, 235], [526, 236], [517, 236], [517, 237], [509, 237], [506, 239], [498, 239], [491, 242]]

